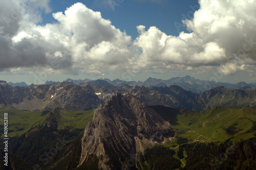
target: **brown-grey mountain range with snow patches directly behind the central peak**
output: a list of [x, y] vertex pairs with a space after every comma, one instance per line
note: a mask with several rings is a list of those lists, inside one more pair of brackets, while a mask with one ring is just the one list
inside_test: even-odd
[[[101, 80], [102, 81], [102, 80]], [[101, 82], [98, 81], [98, 82]], [[19, 110], [49, 110], [61, 107], [69, 110], [91, 110], [106, 102], [113, 92], [132, 94], [147, 106], [164, 105], [201, 111], [215, 106], [256, 106], [256, 90], [229, 90], [223, 86], [193, 93], [177, 85], [145, 87], [111, 84], [91, 86], [72, 82], [12, 87], [0, 84], [0, 104]]]

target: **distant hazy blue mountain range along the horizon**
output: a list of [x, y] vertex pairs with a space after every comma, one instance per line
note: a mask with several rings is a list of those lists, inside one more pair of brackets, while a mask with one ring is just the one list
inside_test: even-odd
[[[88, 83], [91, 86], [98, 86], [98, 85], [106, 85], [106, 84], [112, 84], [114, 86], [118, 86], [120, 84], [126, 84], [130, 86], [145, 86], [145, 87], [165, 87], [170, 85], [177, 85], [182, 87], [185, 90], [192, 91], [195, 93], [200, 93], [206, 90], [209, 90], [214, 87], [223, 86], [228, 89], [243, 89], [243, 90], [256, 90], [256, 83], [245, 83], [245, 82], [239, 82], [237, 84], [230, 84], [230, 83], [223, 83], [223, 82], [215, 82], [215, 81], [206, 81], [206, 80], [199, 80], [195, 79], [190, 76], [185, 77], [176, 77], [169, 80], [162, 80], [162, 79], [156, 79], [156, 78], [148, 78], [144, 82], [141, 81], [123, 81], [120, 79], [115, 79], [111, 81], [110, 79], [99, 79], [99, 80], [90, 80], [90, 79], [84, 79], [84, 80], [72, 80], [67, 79], [63, 82], [73, 82], [75, 85], [81, 85], [83, 83]], [[58, 84], [60, 82], [53, 82], [53, 81], [47, 81], [45, 85], [47, 84]], [[12, 83], [9, 82], [12, 87], [15, 86], [29, 86], [26, 83]]]

